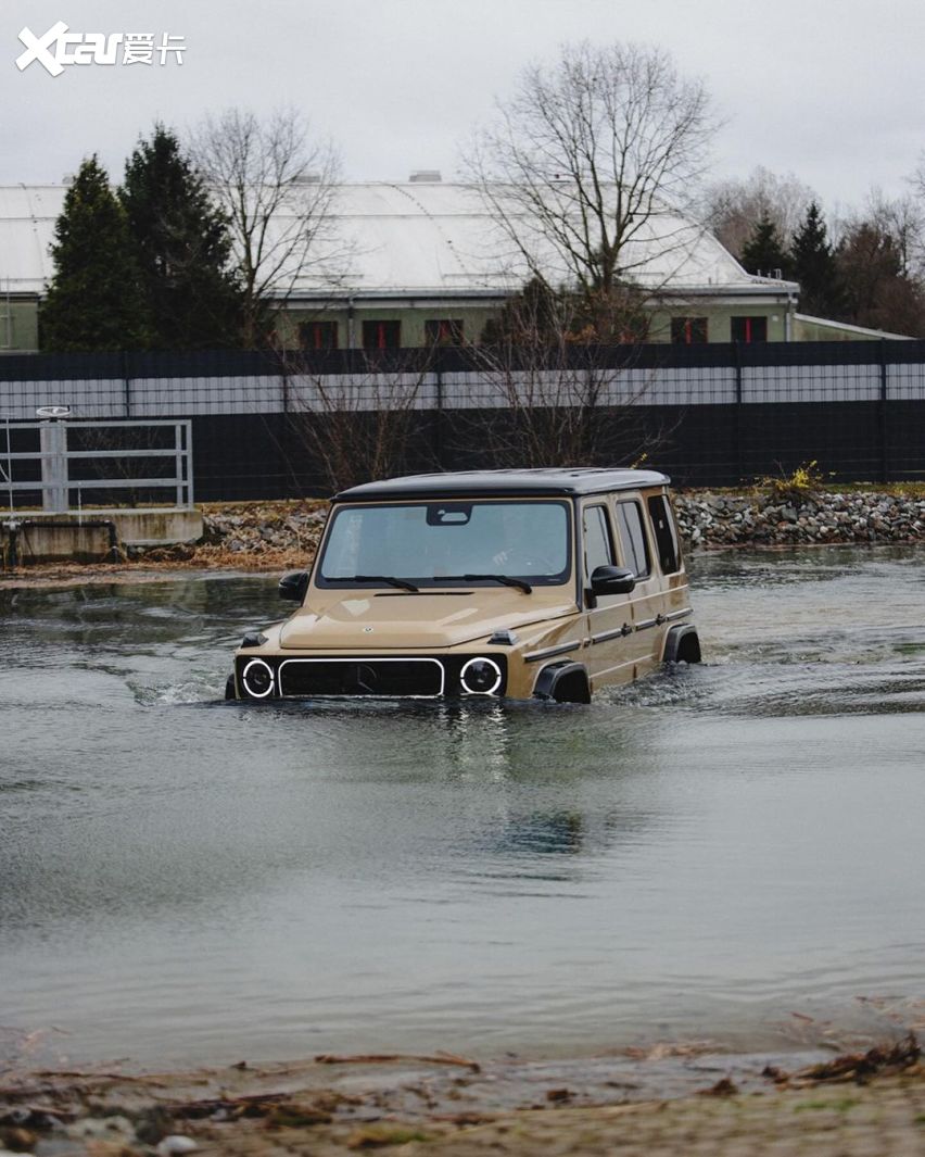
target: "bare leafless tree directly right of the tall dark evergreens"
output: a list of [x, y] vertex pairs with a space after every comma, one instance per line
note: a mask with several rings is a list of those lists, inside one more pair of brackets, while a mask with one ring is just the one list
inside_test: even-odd
[[332, 283], [345, 246], [332, 206], [340, 159], [294, 109], [261, 121], [240, 109], [207, 117], [192, 154], [229, 219], [244, 290], [244, 342], [257, 346], [269, 315], [311, 272]]

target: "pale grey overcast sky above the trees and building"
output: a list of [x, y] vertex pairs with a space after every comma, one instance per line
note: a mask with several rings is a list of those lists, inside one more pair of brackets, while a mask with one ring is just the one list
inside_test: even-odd
[[[182, 37], [184, 62], [20, 72], [20, 30], [58, 21]], [[793, 172], [831, 212], [904, 192], [925, 147], [923, 0], [2, 0], [0, 183], [59, 182], [94, 152], [118, 178], [156, 119], [288, 104], [349, 179], [449, 179], [520, 68], [583, 38], [659, 45], [705, 80], [718, 177]]]

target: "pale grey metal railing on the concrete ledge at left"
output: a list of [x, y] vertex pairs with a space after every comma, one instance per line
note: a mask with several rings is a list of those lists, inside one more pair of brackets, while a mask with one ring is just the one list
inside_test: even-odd
[[[192, 422], [188, 419], [176, 421], [111, 421], [111, 422], [10, 422], [7, 418], [2, 429], [6, 444], [0, 450], [0, 493], [6, 492], [10, 514], [15, 509], [15, 494], [28, 491], [42, 493], [42, 509], [51, 514], [66, 514], [72, 509], [71, 494], [76, 492], [76, 508], [83, 507], [84, 491], [169, 491], [172, 506], [188, 509], [193, 504], [193, 443]], [[87, 434], [89, 432], [135, 428], [139, 432], [160, 428], [172, 430], [170, 445], [145, 447], [141, 449], [104, 449], [72, 450], [68, 448], [71, 429]], [[38, 432], [37, 450], [14, 450], [13, 439], [21, 430]], [[172, 460], [172, 473], [154, 478], [123, 477], [72, 478], [72, 462], [130, 462], [136, 459]], [[16, 463], [39, 462], [42, 478], [16, 478]]]

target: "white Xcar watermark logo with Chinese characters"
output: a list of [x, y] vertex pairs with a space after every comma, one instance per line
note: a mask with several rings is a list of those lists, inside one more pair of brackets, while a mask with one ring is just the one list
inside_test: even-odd
[[183, 64], [186, 44], [183, 36], [162, 32], [71, 32], [59, 20], [43, 36], [24, 28], [20, 43], [24, 51], [16, 67], [24, 72], [39, 64], [52, 76], [60, 76], [68, 65], [158, 65]]

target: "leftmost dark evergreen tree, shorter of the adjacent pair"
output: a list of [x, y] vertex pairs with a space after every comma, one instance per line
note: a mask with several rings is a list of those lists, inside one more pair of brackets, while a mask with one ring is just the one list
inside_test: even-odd
[[81, 164], [54, 226], [54, 277], [42, 304], [43, 349], [138, 349], [145, 303], [125, 211], [96, 156]]

